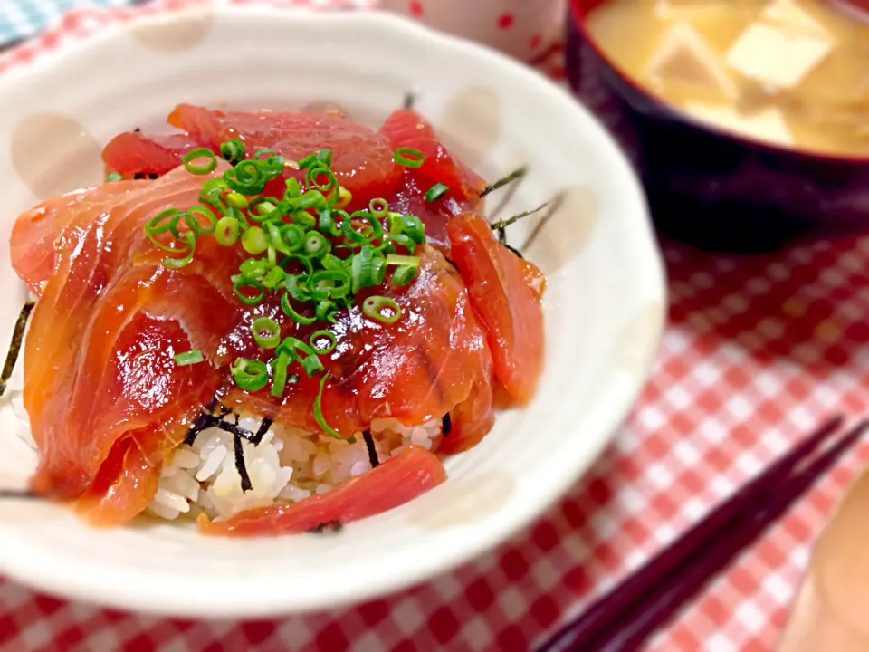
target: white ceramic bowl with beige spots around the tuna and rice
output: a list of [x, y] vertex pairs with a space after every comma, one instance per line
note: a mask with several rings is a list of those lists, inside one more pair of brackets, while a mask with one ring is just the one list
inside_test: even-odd
[[[549, 274], [537, 398], [449, 459], [444, 485], [337, 536], [222, 540], [173, 524], [97, 530], [61, 506], [0, 501], [0, 570], [55, 594], [173, 616], [335, 607], [492, 548], [593, 463], [637, 397], [664, 321], [662, 265], [640, 187], [568, 93], [499, 54], [385, 14], [185, 10], [112, 24], [0, 76], [0, 340], [24, 301], [6, 246], [14, 217], [47, 194], [99, 181], [100, 145], [112, 135], [159, 125], [180, 101], [278, 109], [329, 100], [377, 124], [406, 91], [490, 179], [529, 166], [505, 215], [566, 193], [525, 252]], [[512, 244], [531, 225], [517, 227]], [[3, 409], [0, 482], [20, 484], [35, 454]]]

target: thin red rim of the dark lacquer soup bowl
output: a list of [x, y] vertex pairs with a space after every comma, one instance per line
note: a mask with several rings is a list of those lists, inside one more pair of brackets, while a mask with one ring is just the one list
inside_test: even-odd
[[[598, 5], [603, 5], [608, 0], [600, 0]], [[597, 6], [597, 5], [596, 5]], [[750, 147], [759, 149], [766, 154], [787, 156], [805, 163], [826, 164], [826, 165], [847, 165], [847, 166], [867, 166], [869, 165], [869, 154], [865, 156], [855, 155], [838, 155], [834, 152], [815, 151], [812, 149], [792, 149], [787, 148], [777, 143], [769, 142], [768, 140], [758, 139], [753, 136], [743, 135], [727, 129], [722, 129], [711, 121], [701, 120], [686, 110], [683, 110], [675, 104], [666, 101], [660, 93], [656, 93], [646, 88], [641, 82], [638, 82], [625, 72], [621, 67], [616, 65], [616, 62], [604, 52], [600, 43], [591, 32], [588, 31], [586, 24], [586, 16], [588, 9], [584, 8], [584, 0], [570, 0], [570, 11], [568, 12], [568, 20], [578, 29], [580, 36], [601, 62], [606, 64], [606, 67], [615, 73], [621, 82], [629, 86], [632, 91], [635, 91], [645, 99], [654, 102], [661, 110], [669, 114], [671, 120], [681, 122], [693, 129], [707, 133], [708, 135], [731, 141], [734, 145], [742, 147]], [[569, 43], [567, 44], [569, 46]], [[574, 80], [570, 80], [571, 85]]]

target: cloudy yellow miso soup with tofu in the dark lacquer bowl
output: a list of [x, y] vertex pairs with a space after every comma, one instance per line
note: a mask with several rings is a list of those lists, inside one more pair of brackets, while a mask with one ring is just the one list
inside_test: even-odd
[[587, 30], [627, 77], [721, 129], [869, 156], [869, 14], [836, 0], [608, 0]]

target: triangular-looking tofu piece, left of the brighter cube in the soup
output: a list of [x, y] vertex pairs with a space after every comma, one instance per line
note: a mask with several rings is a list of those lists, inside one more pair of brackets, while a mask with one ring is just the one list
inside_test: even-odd
[[680, 82], [716, 99], [735, 100], [736, 85], [709, 43], [687, 23], [676, 23], [665, 34], [649, 61], [646, 74], [656, 82]]

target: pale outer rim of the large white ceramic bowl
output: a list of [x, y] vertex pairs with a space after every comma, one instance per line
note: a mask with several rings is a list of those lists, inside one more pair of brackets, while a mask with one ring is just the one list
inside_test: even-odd
[[[171, 12], [141, 14], [133, 18], [133, 21], [136, 24], [166, 24], [167, 22], [184, 20], [188, 14], [196, 14], [200, 9], [200, 5], [195, 5]], [[645, 276], [642, 283], [654, 292], [654, 301], [661, 302], [663, 308], [655, 315], [651, 337], [644, 342], [646, 348], [643, 350], [642, 360], [637, 366], [640, 372], [629, 385], [625, 383], [625, 387], [617, 389], [614, 405], [617, 404], [618, 408], [614, 408], [600, 419], [600, 431], [606, 435], [600, 436], [595, 446], [588, 448], [585, 460], [573, 461], [569, 455], [559, 455], [563, 458], [563, 462], [549, 474], [549, 482], [545, 486], [541, 486], [539, 495], [536, 496], [539, 500], [536, 503], [533, 505], [526, 503], [527, 506], [511, 510], [509, 520], [492, 523], [492, 527], [488, 528], [486, 532], [466, 541], [465, 545], [461, 547], [429, 550], [429, 548], [434, 547], [437, 541], [436, 536], [430, 537], [432, 543], [426, 543], [429, 548], [418, 551], [420, 554], [414, 558], [413, 564], [395, 564], [390, 568], [378, 569], [377, 586], [358, 581], [338, 590], [335, 587], [326, 587], [316, 595], [300, 596], [283, 591], [280, 595], [272, 592], [266, 599], [263, 599], [263, 602], [237, 599], [235, 601], [224, 600], [220, 604], [206, 603], [204, 600], [192, 599], [192, 592], [173, 592], [171, 596], [167, 596], [169, 591], [165, 590], [159, 581], [150, 578], [147, 572], [138, 569], [128, 570], [129, 580], [136, 582], [134, 583], [136, 590], [130, 591], [129, 583], [125, 585], [121, 581], [122, 578], [95, 576], [94, 570], [100, 569], [99, 560], [93, 560], [91, 564], [86, 566], [82, 564], [81, 567], [71, 568], [60, 560], [46, 560], [44, 556], [39, 554], [39, 551], [29, 550], [24, 545], [26, 537], [17, 537], [20, 541], [17, 546], [14, 546], [14, 553], [9, 551], [13, 546], [0, 543], [0, 570], [5, 575], [38, 590], [45, 590], [70, 599], [95, 602], [112, 608], [191, 618], [263, 618], [286, 615], [291, 612], [335, 609], [409, 588], [432, 579], [442, 572], [453, 570], [467, 561], [472, 561], [483, 552], [490, 551], [506, 542], [516, 532], [520, 532], [538, 519], [549, 506], [556, 503], [570, 486], [587, 472], [600, 456], [602, 450], [618, 434], [618, 428], [625, 421], [630, 409], [639, 398], [654, 361], [657, 359], [657, 350], [663, 337], [666, 322], [667, 292], [664, 263], [655, 244], [645, 194], [625, 153], [618, 147], [616, 141], [609, 135], [600, 121], [576, 101], [567, 89], [550, 82], [530, 67], [513, 61], [501, 53], [496, 53], [490, 48], [451, 35], [437, 33], [405, 17], [384, 12], [320, 13], [292, 8], [276, 11], [268, 5], [212, 5], [208, 11], [230, 18], [244, 16], [244, 18], [260, 20], [281, 20], [287, 24], [293, 22], [301, 22], [302, 24], [330, 22], [336, 25], [350, 24], [356, 29], [363, 30], [366, 26], [379, 25], [381, 29], [392, 30], [396, 34], [412, 37], [415, 43], [420, 43], [425, 47], [444, 53], [448, 51], [451, 56], [461, 56], [472, 60], [483, 68], [498, 68], [509, 74], [513, 81], [527, 84], [531, 90], [539, 94], [540, 101], [558, 103], [566, 110], [569, 107], [569, 110], [576, 116], [578, 128], [585, 129], [591, 134], [591, 137], [600, 144], [599, 151], [603, 152], [606, 158], [611, 160], [613, 167], [616, 168], [620, 197], [627, 198], [628, 203], [632, 206], [632, 212], [635, 212], [637, 217], [635, 249], [637, 253], [642, 254], [638, 257], [643, 259], [645, 265], [642, 268], [642, 273]], [[14, 75], [0, 75], [0, 89], [6, 84], [13, 84], [18, 79], [26, 79], [27, 72], [50, 66], [55, 59], [62, 58], [68, 53], [86, 52], [88, 49], [99, 48], [100, 45], [111, 43], [113, 39], [116, 39], [120, 34], [123, 34], [124, 30], [129, 28], [130, 23], [124, 21], [124, 23], [106, 24], [96, 34], [88, 34], [70, 43], [64, 43], [53, 52], [47, 53], [46, 56], [37, 57], [33, 62], [22, 64]], [[639, 266], [638, 269], [640, 269]], [[425, 552], [431, 551], [435, 551], [436, 554], [425, 554]], [[209, 579], [205, 579], [203, 584], [196, 588], [197, 595], [207, 594], [217, 587], [214, 581], [211, 583], [209, 581]], [[262, 580], [258, 581], [261, 581], [258, 586], [263, 586]]]

